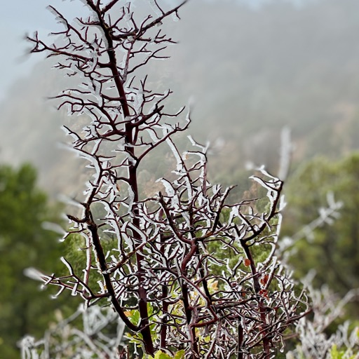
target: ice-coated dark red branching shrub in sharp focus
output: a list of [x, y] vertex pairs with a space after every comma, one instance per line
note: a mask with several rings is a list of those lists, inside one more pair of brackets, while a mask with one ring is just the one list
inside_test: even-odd
[[[80, 235], [83, 267], [62, 257], [65, 276], [28, 273], [57, 285], [59, 294], [81, 296], [86, 306], [111, 305], [127, 328], [119, 348], [87, 336], [88, 358], [269, 358], [310, 311], [305, 291], [294, 288], [275, 255], [283, 182], [259, 168], [252, 179], [264, 198], [229, 201], [231, 188], [208, 182], [208, 146], [189, 137], [181, 154], [173, 140], [188, 128], [189, 113], [182, 118], [184, 107], [167, 109], [171, 91], [150, 90], [151, 79], [140, 76], [166, 57], [174, 41], [161, 24], [177, 20], [186, 2], [166, 10], [149, 1], [156, 15], [141, 19], [131, 1], [85, 0], [88, 13], [74, 22], [50, 6], [64, 27], [60, 39], [28, 38], [32, 53], [58, 57], [55, 68], [79, 79], [55, 100], [83, 115], [86, 123], [64, 129], [90, 168], [84, 198], [72, 201], [81, 212], [67, 216], [63, 237], [74, 243]], [[173, 170], [144, 183], [141, 170], [161, 144]], [[24, 353], [35, 358], [36, 343], [27, 343]]]

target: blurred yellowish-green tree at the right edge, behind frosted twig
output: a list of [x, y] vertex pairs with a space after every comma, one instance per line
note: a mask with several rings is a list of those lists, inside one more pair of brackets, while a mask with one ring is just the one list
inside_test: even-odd
[[298, 168], [287, 187], [289, 205], [283, 233], [293, 236], [318, 217], [318, 209], [323, 215], [328, 195], [342, 203], [341, 209], [313, 231], [306, 231], [304, 226], [297, 234], [301, 239], [294, 246], [291, 262], [299, 276], [315, 269], [316, 285], [326, 283], [344, 295], [359, 287], [358, 153], [339, 161], [317, 157]]

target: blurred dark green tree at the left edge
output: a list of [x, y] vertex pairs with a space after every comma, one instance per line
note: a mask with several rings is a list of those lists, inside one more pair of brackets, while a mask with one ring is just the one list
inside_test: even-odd
[[[43, 221], [58, 222], [48, 198], [36, 187], [36, 170], [0, 165], [0, 357], [18, 358], [16, 342], [48, 327], [58, 302], [49, 302], [23, 271], [41, 265], [53, 270], [60, 247]], [[45, 299], [45, 300], [44, 300]]]

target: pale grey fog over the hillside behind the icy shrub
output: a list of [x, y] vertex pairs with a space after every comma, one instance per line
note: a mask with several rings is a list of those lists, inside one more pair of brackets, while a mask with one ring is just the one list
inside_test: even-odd
[[[13, 30], [1, 60], [0, 161], [30, 161], [44, 189], [76, 193], [78, 166], [57, 145], [66, 141], [60, 126], [69, 119], [45, 100], [68, 79], [43, 57], [20, 62], [27, 48], [20, 36], [58, 29], [43, 10], [46, 2], [16, 8], [6, 2], [8, 14], [16, 16], [1, 25], [3, 33]], [[55, 2], [81, 15], [80, 1]], [[294, 165], [358, 149], [358, 1], [262, 0], [248, 6], [192, 0], [179, 15], [181, 21], [164, 24], [179, 41], [168, 50], [171, 59], [152, 62], [147, 71], [154, 86], [174, 90], [170, 106], [193, 104], [189, 133], [214, 144], [216, 180], [234, 181], [246, 161], [275, 172], [285, 126], [292, 130]]]

